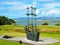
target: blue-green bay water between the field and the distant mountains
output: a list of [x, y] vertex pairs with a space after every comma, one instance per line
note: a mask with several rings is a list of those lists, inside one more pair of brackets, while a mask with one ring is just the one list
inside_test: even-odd
[[[49, 26], [55, 26], [55, 24], [60, 23], [60, 21], [42, 21], [42, 20], [36, 21], [37, 26], [40, 26], [43, 23], [48, 23]], [[27, 22], [27, 20], [25, 20], [25, 21], [16, 20], [16, 24], [21, 25], [21, 26], [25, 26], [28, 24], [28, 22]], [[32, 24], [32, 21], [29, 21], [29, 24]], [[33, 21], [33, 24], [35, 24], [34, 21]]]

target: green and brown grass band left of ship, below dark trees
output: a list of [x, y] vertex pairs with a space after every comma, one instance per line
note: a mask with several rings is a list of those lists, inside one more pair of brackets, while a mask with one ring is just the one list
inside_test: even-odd
[[17, 25], [2, 25], [0, 26], [0, 31], [25, 32], [23, 26]]

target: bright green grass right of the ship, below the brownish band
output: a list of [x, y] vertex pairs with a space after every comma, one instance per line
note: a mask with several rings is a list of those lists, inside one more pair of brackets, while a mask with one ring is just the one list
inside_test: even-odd
[[[60, 33], [59, 32], [58, 33], [41, 32], [40, 36], [60, 40]], [[54, 44], [47, 44], [47, 45], [60, 45], [60, 42], [57, 42], [57, 43], [54, 43]]]

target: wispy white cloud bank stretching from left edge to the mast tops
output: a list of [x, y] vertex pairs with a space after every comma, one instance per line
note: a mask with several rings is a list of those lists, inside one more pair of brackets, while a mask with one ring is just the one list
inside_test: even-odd
[[35, 7], [36, 6], [36, 3], [37, 2], [33, 2], [32, 4], [25, 4], [25, 3], [22, 3], [22, 2], [0, 2], [0, 5], [3, 4], [3, 5], [12, 5], [12, 6], [9, 6], [8, 8], [7, 7], [3, 7], [3, 8], [0, 8], [0, 10], [4, 10], [4, 9], [8, 9], [8, 10], [25, 10], [27, 7], [31, 7], [32, 5]]

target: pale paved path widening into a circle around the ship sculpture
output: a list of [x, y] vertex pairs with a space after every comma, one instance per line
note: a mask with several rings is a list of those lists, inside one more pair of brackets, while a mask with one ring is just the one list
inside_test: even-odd
[[52, 43], [59, 42], [59, 40], [57, 40], [57, 39], [45, 38], [45, 37], [44, 38], [41, 37], [40, 41], [38, 41], [38, 42], [27, 40], [25, 37], [18, 37], [18, 38], [15, 37], [15, 38], [5, 39], [5, 38], [2, 38], [2, 36], [1, 36], [0, 39], [3, 39], [3, 40], [12, 40], [12, 41], [22, 41], [24, 43], [34, 44], [34, 45], [44, 45], [44, 44], [52, 44]]

